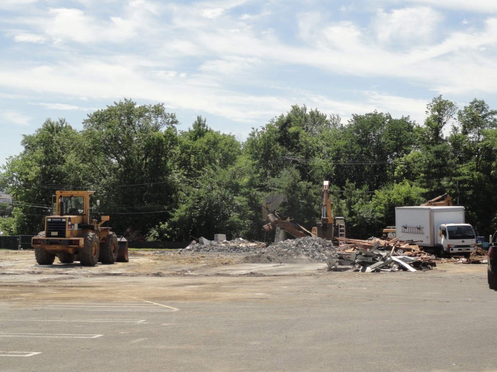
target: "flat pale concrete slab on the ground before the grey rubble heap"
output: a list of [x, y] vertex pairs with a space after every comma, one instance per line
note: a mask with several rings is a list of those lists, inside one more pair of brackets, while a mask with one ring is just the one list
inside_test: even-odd
[[309, 275], [327, 268], [325, 262], [305, 264], [236, 264], [195, 270], [188, 275]]

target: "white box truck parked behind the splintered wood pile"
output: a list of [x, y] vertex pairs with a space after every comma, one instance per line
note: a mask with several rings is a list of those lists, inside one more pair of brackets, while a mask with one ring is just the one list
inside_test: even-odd
[[476, 251], [475, 230], [464, 223], [464, 207], [397, 207], [395, 228], [400, 240], [412, 240], [438, 257]]

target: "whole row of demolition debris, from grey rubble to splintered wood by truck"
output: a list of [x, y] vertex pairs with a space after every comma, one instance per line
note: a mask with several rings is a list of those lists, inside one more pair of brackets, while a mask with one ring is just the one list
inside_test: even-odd
[[354, 240], [347, 244], [317, 236], [299, 237], [273, 243], [249, 242], [238, 238], [231, 241], [211, 241], [200, 238], [177, 254], [235, 253], [247, 255], [245, 263], [311, 263], [326, 262], [330, 271], [396, 272], [429, 270], [440, 262], [420, 251], [417, 246], [394, 240]]

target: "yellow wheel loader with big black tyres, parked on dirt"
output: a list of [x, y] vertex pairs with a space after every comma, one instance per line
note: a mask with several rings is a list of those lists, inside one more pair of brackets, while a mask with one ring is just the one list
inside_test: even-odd
[[128, 241], [118, 240], [110, 227], [102, 227], [109, 216], [92, 218], [93, 194], [94, 191], [56, 191], [55, 214], [45, 217], [45, 230], [31, 239], [38, 264], [52, 265], [55, 256], [62, 263], [80, 261], [83, 266], [128, 262]]

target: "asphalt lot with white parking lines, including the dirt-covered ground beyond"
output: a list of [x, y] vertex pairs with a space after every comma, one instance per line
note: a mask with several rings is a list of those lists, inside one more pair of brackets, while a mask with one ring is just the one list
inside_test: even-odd
[[0, 255], [2, 372], [497, 371], [485, 265], [366, 274], [164, 261], [147, 273], [132, 256], [137, 274], [13, 257]]

